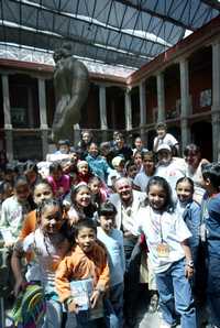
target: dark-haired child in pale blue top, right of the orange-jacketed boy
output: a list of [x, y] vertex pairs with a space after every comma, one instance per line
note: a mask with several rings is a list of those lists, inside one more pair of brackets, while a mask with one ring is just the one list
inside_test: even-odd
[[119, 320], [119, 327], [123, 327], [123, 275], [125, 260], [123, 251], [123, 233], [114, 229], [117, 209], [110, 201], [101, 204], [98, 209], [97, 238], [106, 245], [110, 269], [109, 299]]

